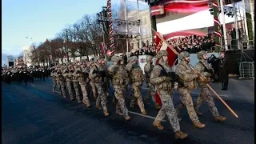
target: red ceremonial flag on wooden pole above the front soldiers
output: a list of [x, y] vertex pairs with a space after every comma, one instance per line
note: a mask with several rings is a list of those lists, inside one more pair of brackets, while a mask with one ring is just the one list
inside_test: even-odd
[[[158, 53], [158, 51], [160, 50], [166, 50], [168, 53], [168, 65], [169, 66], [174, 66], [174, 62], [177, 59], [177, 54], [178, 52], [176, 50], [174, 50], [173, 47], [170, 47], [169, 44], [167, 44], [167, 42], [163, 39], [162, 34], [154, 31], [154, 43], [155, 43], [155, 47], [156, 47], [156, 52]], [[156, 65], [158, 64], [158, 60], [156, 62]], [[158, 95], [158, 92], [156, 92], [155, 94], [155, 101], [162, 106], [162, 102], [161, 99]]]

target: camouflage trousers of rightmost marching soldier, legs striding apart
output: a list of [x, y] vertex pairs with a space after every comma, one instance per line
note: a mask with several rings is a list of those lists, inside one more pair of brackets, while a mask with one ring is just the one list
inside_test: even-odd
[[214, 98], [210, 95], [210, 91], [207, 87], [202, 87], [201, 93], [198, 96], [198, 100], [195, 104], [195, 110], [199, 109], [199, 106], [202, 105], [202, 102], [206, 101], [211, 114], [213, 114], [214, 117], [218, 116], [218, 110], [217, 107], [214, 104]]

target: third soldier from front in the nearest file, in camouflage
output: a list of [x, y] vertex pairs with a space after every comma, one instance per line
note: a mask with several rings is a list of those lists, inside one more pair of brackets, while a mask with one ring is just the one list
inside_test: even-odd
[[[89, 78], [94, 81], [95, 86], [98, 90], [98, 98], [96, 100], [96, 107], [101, 110], [103, 108], [103, 112], [105, 116], [108, 116], [109, 113], [106, 108], [106, 94], [102, 88], [102, 77], [104, 77], [104, 74], [106, 74], [106, 71], [104, 71], [104, 67], [100, 64], [100, 58], [96, 57], [94, 58], [95, 65], [90, 69]], [[99, 104], [102, 104], [102, 108], [99, 106]]]

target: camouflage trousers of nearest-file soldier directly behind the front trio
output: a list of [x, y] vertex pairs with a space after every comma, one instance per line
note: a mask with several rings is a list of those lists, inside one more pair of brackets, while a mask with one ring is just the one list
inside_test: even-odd
[[122, 117], [128, 116], [128, 109], [126, 107], [126, 102], [124, 95], [126, 94], [125, 86], [114, 86], [114, 97], [118, 100], [116, 106], [116, 113]]

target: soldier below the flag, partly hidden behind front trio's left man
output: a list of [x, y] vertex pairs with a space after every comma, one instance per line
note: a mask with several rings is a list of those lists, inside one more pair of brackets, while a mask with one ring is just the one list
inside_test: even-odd
[[154, 107], [156, 109], [160, 109], [161, 106], [158, 105], [157, 102], [155, 102], [155, 90], [154, 90], [154, 86], [152, 85], [152, 83], [150, 82], [150, 74], [151, 71], [154, 69], [154, 65], [152, 65], [152, 56], [147, 55], [146, 56], [146, 65], [144, 66], [144, 72], [145, 72], [145, 81], [146, 81], [146, 85], [149, 87], [149, 91], [146, 95], [146, 98], [144, 99], [145, 102], [148, 101], [149, 98], [152, 98], [153, 102], [154, 102]]

